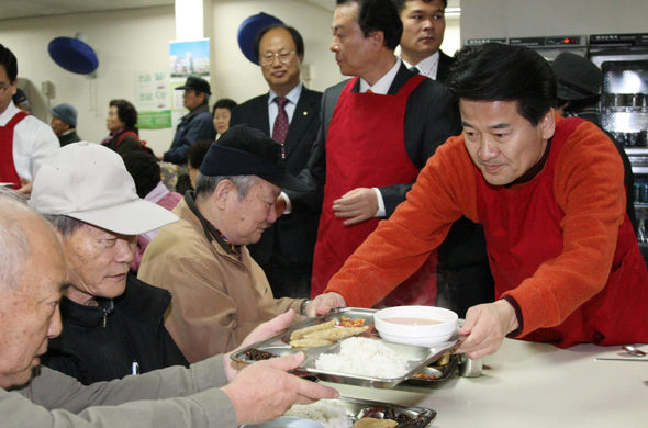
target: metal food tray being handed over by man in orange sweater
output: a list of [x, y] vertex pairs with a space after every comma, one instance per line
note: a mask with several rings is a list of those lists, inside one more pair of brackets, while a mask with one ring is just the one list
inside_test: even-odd
[[[277, 356], [287, 356], [293, 354], [299, 351], [303, 351], [306, 354], [306, 359], [304, 362], [299, 367], [299, 371], [303, 374], [312, 374], [315, 378], [326, 381], [326, 382], [334, 382], [334, 383], [344, 383], [348, 385], [359, 385], [359, 386], [370, 386], [370, 387], [382, 387], [389, 388], [398, 385], [399, 383], [403, 382], [404, 380], [412, 376], [412, 374], [416, 372], [421, 372], [423, 368], [428, 365], [431, 362], [436, 361], [440, 358], [444, 353], [449, 351], [456, 343], [456, 340], [450, 340], [444, 343], [435, 345], [434, 347], [420, 347], [420, 346], [411, 346], [411, 345], [401, 345], [401, 343], [392, 343], [389, 341], [383, 341], [388, 347], [392, 348], [404, 359], [409, 360], [407, 363], [407, 372], [399, 378], [392, 379], [383, 379], [383, 378], [371, 378], [371, 376], [362, 376], [358, 374], [350, 374], [350, 373], [340, 373], [340, 372], [331, 372], [324, 371], [315, 368], [315, 360], [322, 353], [335, 353], [339, 350], [339, 342], [334, 345], [329, 345], [326, 347], [315, 347], [315, 348], [306, 348], [306, 349], [293, 349], [290, 347], [290, 334], [297, 329], [309, 327], [316, 324], [326, 323], [329, 320], [339, 320], [340, 317], [349, 317], [353, 319], [365, 319], [366, 326], [371, 326], [370, 329], [365, 331], [364, 334], [359, 335], [359, 337], [367, 337], [372, 338], [376, 340], [382, 340], [376, 333], [373, 328], [373, 314], [376, 309], [365, 309], [365, 308], [357, 308], [357, 307], [345, 307], [339, 309], [331, 311], [326, 315], [322, 315], [315, 318], [304, 319], [301, 323], [290, 326], [286, 330], [271, 336], [265, 340], [258, 341], [253, 343], [246, 348], [238, 350], [237, 352], [233, 352], [231, 354], [232, 360], [243, 363], [252, 363], [254, 360], [250, 360], [246, 352], [249, 350], [260, 350], [265, 352], [271, 352]], [[300, 374], [302, 374], [300, 373]]]

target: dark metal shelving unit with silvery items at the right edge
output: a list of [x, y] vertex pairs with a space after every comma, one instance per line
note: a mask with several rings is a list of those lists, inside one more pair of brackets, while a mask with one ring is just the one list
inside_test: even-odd
[[637, 238], [648, 260], [648, 33], [591, 35], [589, 56], [603, 71], [601, 125], [633, 165]]

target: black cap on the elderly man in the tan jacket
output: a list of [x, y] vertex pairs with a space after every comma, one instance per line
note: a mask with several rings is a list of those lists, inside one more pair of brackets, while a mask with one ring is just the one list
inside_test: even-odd
[[309, 190], [305, 183], [286, 171], [281, 145], [245, 124], [232, 126], [212, 144], [200, 166], [200, 173], [211, 177], [258, 176], [280, 188]]

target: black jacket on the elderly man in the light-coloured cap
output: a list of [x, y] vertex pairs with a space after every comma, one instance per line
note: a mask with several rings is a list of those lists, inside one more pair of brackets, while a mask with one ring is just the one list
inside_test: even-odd
[[169, 365], [188, 365], [164, 327], [171, 295], [129, 274], [121, 296], [99, 299], [99, 306], [83, 306], [63, 297], [63, 334], [49, 341], [43, 364], [88, 385]]

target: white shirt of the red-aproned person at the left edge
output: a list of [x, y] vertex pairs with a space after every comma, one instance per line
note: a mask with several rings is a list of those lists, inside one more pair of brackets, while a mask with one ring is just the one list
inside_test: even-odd
[[[5, 126], [20, 110], [9, 103], [0, 114], [0, 126]], [[60, 147], [58, 137], [46, 123], [32, 115], [26, 116], [13, 128], [13, 166], [20, 178], [34, 181], [43, 160]]]

